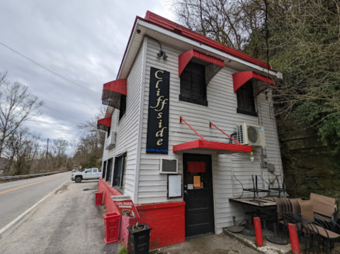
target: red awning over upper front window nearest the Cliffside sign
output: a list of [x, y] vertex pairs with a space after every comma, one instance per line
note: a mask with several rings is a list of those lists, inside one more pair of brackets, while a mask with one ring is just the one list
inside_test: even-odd
[[205, 53], [200, 53], [197, 50], [188, 50], [179, 55], [179, 77], [188, 65], [188, 62], [197, 62], [200, 65], [205, 65], [205, 83], [209, 84], [210, 80], [225, 67], [225, 62], [220, 58]]

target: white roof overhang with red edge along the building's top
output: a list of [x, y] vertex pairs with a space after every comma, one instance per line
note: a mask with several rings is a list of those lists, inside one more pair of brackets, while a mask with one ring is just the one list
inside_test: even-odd
[[[174, 24], [178, 27], [181, 27], [181, 29], [184, 29], [183, 26], [179, 26], [176, 23]], [[137, 33], [137, 30], [139, 33]], [[188, 31], [190, 30], [188, 29]], [[197, 34], [198, 33], [195, 33], [195, 35]], [[164, 45], [174, 45], [176, 48], [178, 48], [180, 45], [181, 50], [183, 50], [182, 52], [194, 49], [207, 55], [215, 56], [223, 60], [226, 67], [231, 67], [232, 69], [237, 70], [237, 72], [253, 70], [254, 72], [260, 72], [282, 79], [282, 74], [280, 72], [276, 72], [271, 70], [271, 68], [264, 67], [267, 65], [265, 65], [265, 62], [263, 64], [261, 60], [229, 47], [227, 47], [229, 50], [225, 51], [223, 50], [223, 48], [226, 47], [225, 45], [217, 43], [209, 38], [205, 38], [203, 35], [200, 35], [199, 38], [194, 38], [193, 35], [189, 37], [189, 35], [186, 35], [186, 33], [183, 34], [183, 32], [179, 33], [176, 31], [176, 28], [160, 25], [159, 23], [157, 24], [140, 17], [135, 19], [117, 79], [125, 79], [128, 77], [132, 64], [135, 61], [135, 57], [137, 57], [140, 45], [145, 38], [144, 35], [150, 35], [153, 38], [159, 40]], [[205, 38], [204, 41], [203, 38]], [[147, 38], [145, 38], [145, 40], [147, 40]]]

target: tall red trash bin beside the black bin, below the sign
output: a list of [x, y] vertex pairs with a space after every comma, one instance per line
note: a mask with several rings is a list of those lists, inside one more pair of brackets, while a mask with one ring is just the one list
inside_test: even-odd
[[118, 241], [120, 214], [109, 213], [109, 214], [103, 214], [103, 216], [104, 216], [104, 228], [105, 228], [104, 242], [106, 244], [115, 243]]

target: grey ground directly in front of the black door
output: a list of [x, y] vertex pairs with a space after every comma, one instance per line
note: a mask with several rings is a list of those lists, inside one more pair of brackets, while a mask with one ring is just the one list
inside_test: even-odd
[[[153, 250], [152, 254], [254, 254], [249, 248], [236, 239], [225, 235], [199, 236], [186, 239], [185, 243]], [[276, 253], [277, 254], [277, 253]]]

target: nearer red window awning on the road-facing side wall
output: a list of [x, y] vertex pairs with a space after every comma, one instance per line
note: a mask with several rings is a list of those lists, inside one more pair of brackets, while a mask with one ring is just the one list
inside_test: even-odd
[[103, 94], [101, 100], [104, 105], [112, 106], [119, 109], [120, 97], [127, 94], [127, 82], [126, 79], [118, 79], [108, 82], [103, 85]]

